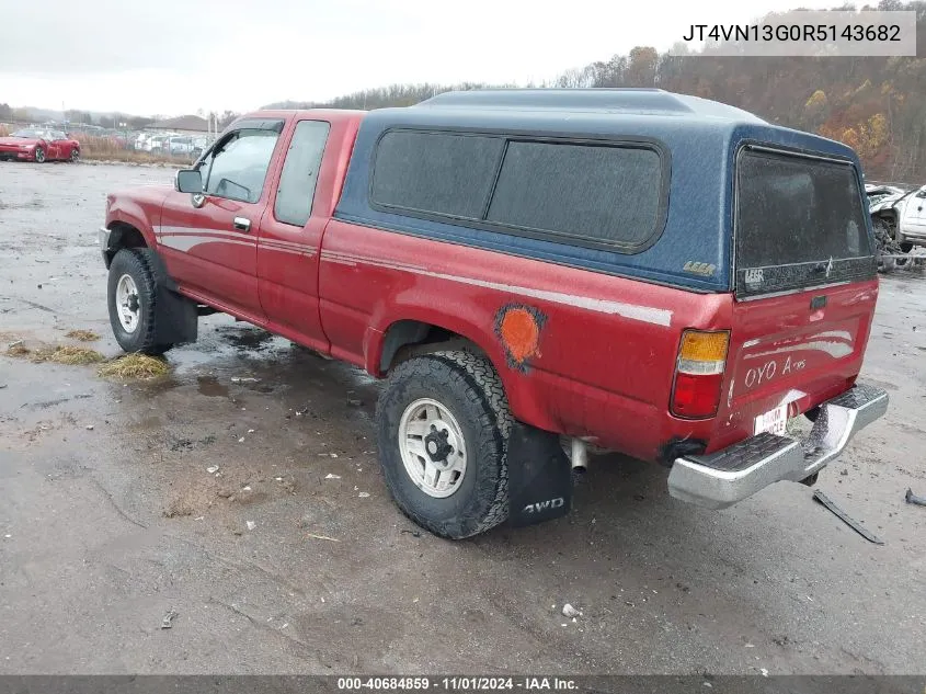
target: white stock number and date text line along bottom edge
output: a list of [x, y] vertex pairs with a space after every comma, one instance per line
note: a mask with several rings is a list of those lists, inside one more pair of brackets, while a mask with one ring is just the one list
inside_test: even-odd
[[346, 692], [361, 691], [425, 691], [438, 690], [446, 692], [491, 692], [515, 691], [575, 691], [579, 683], [569, 678], [491, 678], [491, 676], [391, 676], [391, 678], [339, 678], [338, 689]]

